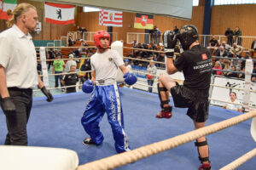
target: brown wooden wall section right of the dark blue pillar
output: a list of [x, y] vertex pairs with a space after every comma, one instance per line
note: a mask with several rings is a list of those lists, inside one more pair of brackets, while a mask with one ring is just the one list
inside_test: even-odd
[[256, 36], [256, 4], [212, 7], [211, 34], [224, 35], [227, 27], [241, 29], [242, 36]]

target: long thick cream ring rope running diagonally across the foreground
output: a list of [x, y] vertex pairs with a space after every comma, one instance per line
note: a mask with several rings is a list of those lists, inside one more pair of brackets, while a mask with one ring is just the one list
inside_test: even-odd
[[216, 133], [224, 128], [234, 126], [240, 122], [253, 118], [254, 116], [256, 116], [256, 111], [251, 111], [241, 116], [236, 116], [222, 122], [214, 123], [207, 127], [201, 127], [200, 129], [193, 130], [189, 133], [183, 133], [171, 139], [162, 140], [154, 144], [148, 144], [135, 150], [109, 156], [98, 161], [91, 161], [79, 166], [78, 170], [107, 170], [120, 167], [148, 156], [153, 156], [162, 151], [171, 150], [172, 148], [201, 138], [207, 134]]

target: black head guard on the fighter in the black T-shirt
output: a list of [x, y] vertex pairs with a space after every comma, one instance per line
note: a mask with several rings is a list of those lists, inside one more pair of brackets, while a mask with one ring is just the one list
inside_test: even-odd
[[177, 39], [181, 43], [183, 50], [189, 49], [189, 46], [198, 39], [198, 31], [195, 26], [183, 26], [177, 35]]

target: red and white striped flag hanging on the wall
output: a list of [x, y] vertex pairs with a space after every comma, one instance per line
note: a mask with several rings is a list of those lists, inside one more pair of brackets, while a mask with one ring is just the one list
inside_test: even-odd
[[100, 26], [123, 26], [123, 12], [102, 9], [99, 12]]

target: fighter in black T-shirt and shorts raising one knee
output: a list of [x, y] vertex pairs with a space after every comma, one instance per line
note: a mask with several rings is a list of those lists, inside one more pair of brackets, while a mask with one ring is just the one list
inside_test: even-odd
[[[212, 56], [207, 48], [201, 47], [198, 31], [195, 26], [183, 26], [174, 35], [173, 31], [166, 31], [163, 41], [166, 51], [166, 70], [168, 74], [183, 71], [183, 85], [178, 85], [168, 75], [159, 78], [158, 91], [160, 96], [161, 111], [157, 118], [171, 118], [172, 106], [169, 105], [169, 92], [172, 94], [175, 107], [189, 108], [187, 115], [194, 121], [195, 129], [205, 127], [209, 109], [209, 88], [212, 73]], [[181, 43], [183, 53], [175, 62], [174, 47], [177, 40]], [[196, 139], [200, 170], [211, 170], [209, 149], [206, 137]]]

